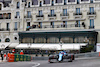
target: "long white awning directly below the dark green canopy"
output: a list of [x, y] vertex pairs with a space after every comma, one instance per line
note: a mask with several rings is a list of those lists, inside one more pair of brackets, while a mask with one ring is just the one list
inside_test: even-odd
[[19, 44], [16, 49], [41, 49], [41, 50], [80, 50], [81, 46], [86, 46], [87, 43], [72, 43], [72, 44]]

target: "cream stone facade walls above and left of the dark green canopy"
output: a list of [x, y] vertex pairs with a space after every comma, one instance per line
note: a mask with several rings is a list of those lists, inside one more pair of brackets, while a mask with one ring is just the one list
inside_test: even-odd
[[[40, 1], [42, 2], [42, 6], [39, 5]], [[50, 4], [43, 4], [43, 2], [43, 0], [38, 0], [38, 5], [32, 5], [32, 0], [26, 0], [26, 2], [22, 2], [22, 0], [12, 0], [11, 3], [9, 3], [9, 7], [4, 7], [4, 4], [0, 2], [0, 14], [6, 14], [7, 16], [8, 13], [11, 13], [10, 19], [0, 19], [0, 43], [6, 43], [6, 38], [10, 39], [10, 43], [19, 43], [18, 32], [26, 31], [28, 23], [29, 26], [36, 25], [36, 28], [30, 29], [31, 31], [100, 29], [99, 0], [93, 0], [93, 3], [90, 3], [90, 0], [80, 0], [79, 4], [77, 4], [77, 0], [75, 0], [75, 2], [68, 2], [67, 0], [66, 5], [64, 5], [64, 0], [62, 0], [62, 3], [54, 2], [53, 6], [51, 6], [51, 0]], [[17, 3], [19, 3], [19, 6]], [[78, 14], [77, 8], [79, 8]], [[64, 9], [67, 9], [68, 15], [66, 16], [63, 15]], [[55, 16], [48, 16], [51, 15], [51, 10], [54, 10]], [[28, 11], [30, 11], [30, 14], [28, 14]], [[43, 16], [38, 17], [39, 11], [42, 11]], [[91, 11], [93, 12], [90, 13]], [[40, 22], [42, 22], [42, 24], [39, 24]], [[54, 28], [51, 27], [51, 22], [54, 22]], [[67, 22], [67, 28], [61, 27], [61, 24], [65, 22]], [[79, 22], [78, 25], [80, 26], [75, 27], [76, 22]], [[85, 27], [82, 25], [83, 22]], [[39, 25], [41, 25], [42, 28], [39, 28]], [[100, 31], [98, 31], [97, 42], [100, 43]]]

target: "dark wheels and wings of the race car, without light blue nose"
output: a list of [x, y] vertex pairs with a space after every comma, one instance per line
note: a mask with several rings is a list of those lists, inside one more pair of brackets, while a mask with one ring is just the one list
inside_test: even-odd
[[53, 62], [63, 62], [63, 61], [68, 61], [68, 62], [72, 62], [73, 60], [75, 60], [74, 54], [67, 54], [62, 56], [62, 60], [58, 61], [59, 58], [59, 54], [56, 55], [50, 55], [49, 56], [49, 63], [53, 63]]

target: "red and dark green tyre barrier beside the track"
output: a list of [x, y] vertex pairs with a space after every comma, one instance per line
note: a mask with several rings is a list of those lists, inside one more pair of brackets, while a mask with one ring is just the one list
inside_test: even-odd
[[18, 61], [31, 61], [31, 56], [20, 55], [20, 54], [8, 54], [8, 62], [18, 62]]

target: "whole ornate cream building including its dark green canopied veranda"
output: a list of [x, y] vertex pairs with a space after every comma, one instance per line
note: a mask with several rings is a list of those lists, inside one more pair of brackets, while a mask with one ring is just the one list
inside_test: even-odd
[[5, 0], [0, 7], [1, 46], [100, 42], [99, 0]]

